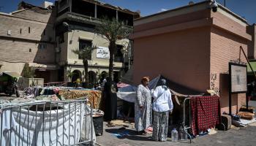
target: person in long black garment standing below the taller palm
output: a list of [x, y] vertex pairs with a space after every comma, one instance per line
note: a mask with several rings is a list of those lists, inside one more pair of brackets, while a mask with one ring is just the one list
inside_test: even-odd
[[117, 87], [116, 84], [110, 81], [110, 77], [107, 77], [107, 82], [104, 85], [104, 100], [105, 100], [105, 120], [108, 121], [108, 126], [114, 126], [110, 123], [111, 120], [116, 120], [117, 117]]

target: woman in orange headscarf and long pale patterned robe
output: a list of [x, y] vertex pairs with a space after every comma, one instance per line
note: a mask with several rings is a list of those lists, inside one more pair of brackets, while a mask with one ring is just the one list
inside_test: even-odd
[[145, 129], [151, 126], [151, 91], [148, 88], [148, 77], [143, 77], [138, 85], [135, 99], [135, 128], [138, 134], [146, 134]]

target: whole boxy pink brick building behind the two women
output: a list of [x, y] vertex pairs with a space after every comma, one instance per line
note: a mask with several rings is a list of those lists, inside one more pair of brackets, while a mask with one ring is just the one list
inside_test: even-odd
[[[205, 93], [212, 89], [221, 97], [222, 112], [229, 112], [229, 63], [246, 63], [252, 40], [244, 18], [211, 1], [170, 9], [135, 20], [133, 81], [162, 74], [184, 87]], [[246, 104], [246, 93], [232, 94], [232, 112]]]

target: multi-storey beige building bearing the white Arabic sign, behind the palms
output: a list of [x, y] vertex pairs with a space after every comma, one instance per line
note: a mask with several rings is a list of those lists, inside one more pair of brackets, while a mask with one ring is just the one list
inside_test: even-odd
[[[62, 0], [58, 2], [56, 17], [56, 54], [61, 69], [73, 72], [72, 82], [77, 77], [84, 78], [83, 61], [72, 50], [80, 50], [84, 46], [97, 47], [91, 53], [89, 60], [89, 82], [96, 79], [96, 75], [108, 72], [109, 51], [108, 41], [95, 32], [104, 17], [115, 18], [124, 22], [124, 27], [132, 28], [133, 20], [140, 17], [138, 12], [121, 9], [110, 4], [94, 0]], [[86, 8], [86, 9], [84, 9]], [[129, 39], [116, 42], [118, 47], [114, 55], [114, 80], [118, 81], [121, 74], [128, 69], [131, 45]], [[64, 75], [67, 80], [67, 75]], [[84, 80], [84, 79], [83, 79]]]

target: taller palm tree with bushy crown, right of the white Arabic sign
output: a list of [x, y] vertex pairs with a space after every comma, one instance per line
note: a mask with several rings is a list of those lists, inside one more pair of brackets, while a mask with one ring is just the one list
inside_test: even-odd
[[110, 80], [113, 81], [113, 61], [114, 54], [117, 50], [116, 41], [127, 38], [132, 30], [124, 27], [124, 24], [115, 18], [110, 20], [105, 17], [102, 18], [99, 26], [96, 27], [96, 31], [97, 34], [101, 35], [109, 42], [108, 49], [110, 53], [110, 60], [108, 76], [110, 77]]

